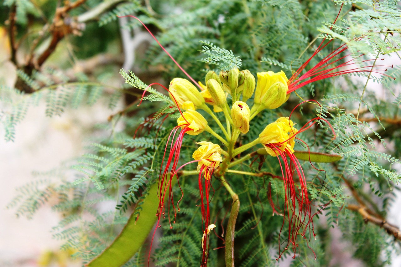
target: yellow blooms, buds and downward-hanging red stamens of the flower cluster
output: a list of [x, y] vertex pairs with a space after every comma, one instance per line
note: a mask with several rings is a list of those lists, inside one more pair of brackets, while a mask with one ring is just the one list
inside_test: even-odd
[[[170, 147], [170, 153], [168, 154], [165, 166], [162, 165], [160, 170], [160, 204], [158, 215], [160, 218], [161, 215], [164, 216], [165, 214], [164, 201], [166, 192], [169, 192], [170, 201], [168, 208], [172, 208], [174, 218], [176, 217], [176, 208], [171, 189], [172, 179], [176, 176], [180, 168], [192, 162], [197, 162], [198, 167], [196, 170], [198, 172], [201, 200], [199, 206], [203, 218], [203, 238], [201, 241], [203, 249], [202, 266], [206, 266], [207, 264], [208, 237], [210, 231], [215, 228], [215, 224], [213, 224], [210, 218], [209, 208], [211, 201], [210, 192], [213, 190], [213, 174], [218, 169], [218, 175], [221, 179], [224, 179], [224, 174], [230, 172], [228, 166], [233, 163], [234, 156], [257, 144], [263, 144], [269, 155], [280, 157], [282, 159], [280, 164], [281, 162], [284, 164], [284, 168], [282, 167], [282, 177], [285, 190], [288, 192], [288, 196], [285, 197], [287, 216], [284, 219], [287, 218], [290, 225], [289, 244], [291, 243], [295, 246], [298, 233], [301, 232], [304, 235], [309, 223], [312, 221], [306, 179], [303, 176], [298, 160], [293, 154], [295, 136], [298, 131], [294, 128], [294, 123], [290, 119], [286, 117], [277, 119], [277, 121], [268, 124], [255, 141], [235, 148], [235, 143], [239, 135], [248, 133], [251, 120], [258, 113], [263, 109], [275, 109], [286, 102], [288, 99], [287, 82], [288, 79], [282, 71], [279, 73], [271, 71], [257, 73], [256, 84], [255, 77], [248, 70], [239, 71], [238, 69], [232, 69], [231, 71], [222, 71], [219, 75], [210, 71], [206, 76], [206, 86], [198, 83], [201, 91], [198, 91], [186, 79], [175, 78], [170, 83], [168, 89], [169, 95], [180, 110], [181, 115], [177, 119], [177, 126], [172, 130], [168, 138], [166, 151]], [[253, 95], [255, 95], [253, 105], [249, 108], [246, 101], [251, 101]], [[242, 100], [240, 100], [241, 96]], [[230, 98], [232, 99], [231, 109], [229, 107]], [[223, 112], [227, 127], [222, 125], [208, 105], [212, 106], [215, 112]], [[214, 123], [208, 123], [208, 120], [197, 111], [198, 109], [209, 114]], [[219, 126], [219, 131], [224, 136], [217, 134], [209, 124]], [[179, 133], [178, 130], [180, 130]], [[185, 134], [197, 136], [203, 132], [207, 132], [217, 138], [221, 144], [225, 145], [226, 150], [212, 142], [197, 142], [196, 144], [200, 146], [193, 152], [192, 157], [194, 160], [183, 166], [178, 166], [180, 149]], [[207, 139], [210, 139], [210, 137]], [[165, 156], [167, 154], [166, 151]], [[294, 183], [294, 169], [302, 181], [301, 188], [298, 188], [299, 186]], [[229, 186], [227, 181], [226, 184]], [[176, 204], [177, 207], [178, 202]], [[177, 210], [179, 211], [179, 208]], [[296, 223], [296, 220], [299, 223]]]

